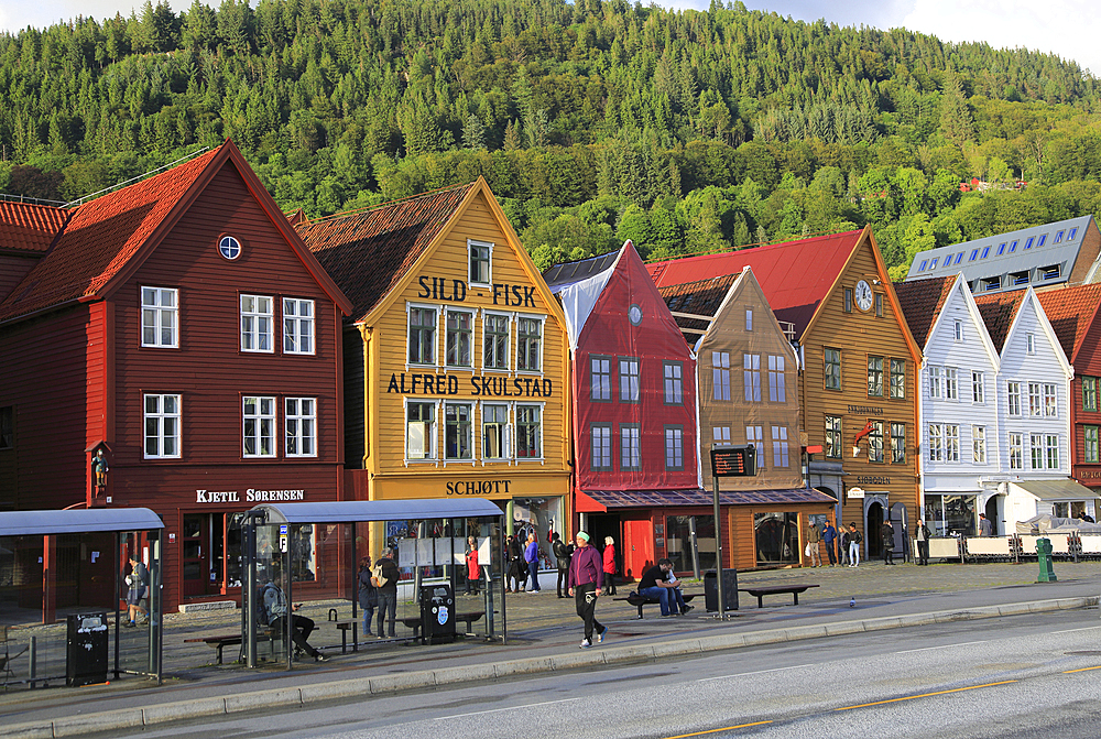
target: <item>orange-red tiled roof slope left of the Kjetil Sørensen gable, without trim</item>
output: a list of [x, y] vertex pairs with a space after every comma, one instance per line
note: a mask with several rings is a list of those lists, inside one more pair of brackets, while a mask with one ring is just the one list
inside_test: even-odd
[[54, 248], [0, 303], [0, 320], [96, 295], [149, 240], [220, 150], [75, 208]]

